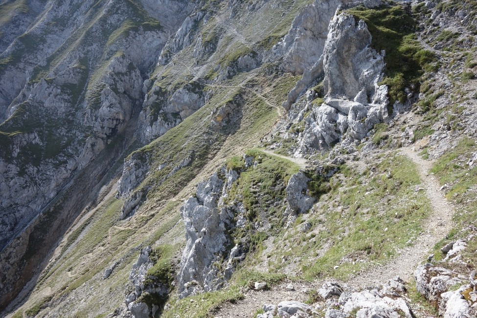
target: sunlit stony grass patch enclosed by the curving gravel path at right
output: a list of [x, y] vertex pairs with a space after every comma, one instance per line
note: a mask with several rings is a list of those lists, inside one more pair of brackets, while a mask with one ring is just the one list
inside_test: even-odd
[[[302, 271], [306, 278], [333, 276], [346, 280], [371, 262], [396, 256], [397, 250], [422, 230], [430, 203], [425, 194], [414, 190], [420, 184], [414, 164], [402, 155], [383, 157], [378, 162], [373, 174], [369, 169], [357, 173], [344, 167], [344, 179], [332, 179], [337, 184], [331, 202], [323, 203], [321, 215], [309, 221], [322, 228], [314, 239], [302, 239]], [[336, 210], [338, 206], [341, 213]], [[318, 259], [309, 252], [323, 248], [324, 254]], [[353, 264], [353, 259], [363, 262]], [[340, 266], [338, 270], [333, 270], [335, 265]]]

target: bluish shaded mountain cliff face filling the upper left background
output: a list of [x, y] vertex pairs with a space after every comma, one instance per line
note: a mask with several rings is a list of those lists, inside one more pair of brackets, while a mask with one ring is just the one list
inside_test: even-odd
[[[81, 171], [135, 122], [147, 69], [168, 34], [193, 9], [193, 4], [166, 2], [164, 8], [170, 12], [160, 21], [148, 16], [147, 9], [157, 11], [151, 3], [146, 9], [127, 2], [105, 3], [97, 12], [91, 9], [93, 3], [63, 4], [43, 12], [41, 23], [32, 26], [24, 40], [16, 39], [3, 51], [9, 62], [1, 70], [1, 117], [6, 119], [1, 129], [24, 137], [13, 142], [3, 136], [2, 166], [12, 171], [3, 174], [3, 211], [16, 217], [1, 213], [2, 246], [42, 211], [73, 171]], [[78, 21], [84, 16], [88, 23]], [[73, 20], [57, 23], [58, 31], [52, 33], [51, 25], [67, 17]], [[37, 137], [31, 139], [31, 134]], [[26, 178], [17, 178], [14, 171], [23, 169], [24, 156], [31, 156], [34, 164], [27, 168]], [[15, 198], [18, 192], [26, 195], [21, 204]]]

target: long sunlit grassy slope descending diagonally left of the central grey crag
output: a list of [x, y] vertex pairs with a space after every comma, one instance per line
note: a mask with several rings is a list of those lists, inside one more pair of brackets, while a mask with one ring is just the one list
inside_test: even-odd
[[[232, 90], [232, 93], [236, 92], [236, 90]], [[226, 93], [226, 95], [229, 94]], [[36, 291], [40, 293], [45, 288], [51, 288], [56, 297], [77, 295], [75, 290], [78, 288], [80, 295], [91, 287], [98, 290], [109, 288], [117, 302], [111, 302], [107, 307], [99, 309], [104, 305], [101, 303], [104, 299], [91, 297], [88, 306], [98, 308], [98, 312], [112, 311], [114, 306], [118, 306], [123, 298], [122, 286], [138, 253], [138, 250], [134, 250], [134, 248], [151, 245], [158, 240], [161, 242], [182, 241], [182, 223], [178, 224], [180, 220], [178, 207], [181, 201], [175, 201], [174, 196], [201, 171], [205, 164], [211, 164], [210, 161], [217, 151], [221, 150], [221, 147], [227, 148], [228, 153], [240, 144], [246, 146], [250, 138], [258, 140], [274, 124], [277, 115], [272, 107], [251, 93], [246, 93], [244, 96], [248, 103], [243, 108], [242, 124], [238, 131], [227, 139], [225, 146], [223, 145], [226, 135], [219, 134], [220, 136], [215, 136], [217, 139], [211, 139], [214, 133], [211, 134], [211, 131], [207, 130], [207, 125], [211, 120], [211, 110], [218, 108], [223, 102], [224, 96], [218, 93], [216, 98], [212, 99], [203, 109], [139, 150], [138, 152], [153, 154], [153, 171], [155, 171], [156, 165], [164, 162], [165, 158], [168, 158], [167, 160], [171, 163], [169, 168], [172, 168], [191, 150], [200, 149], [195, 152], [194, 163], [179, 170], [174, 178], [159, 184], [159, 181], [170, 172], [170, 169], [164, 169], [163, 173], [149, 175], [139, 187], [141, 189], [152, 186], [148, 192], [147, 201], [132, 220], [117, 221], [121, 208], [121, 202], [117, 199], [112, 198], [103, 202], [98, 211], [83, 220], [83, 225], [69, 234], [68, 239], [62, 245], [59, 261], [43, 274]], [[198, 122], [203, 122], [204, 125], [197, 125]], [[204, 138], [215, 141], [210, 146], [204, 147], [204, 142], [207, 140]], [[169, 154], [175, 154], [175, 156], [169, 158]], [[214, 161], [212, 165], [217, 168], [220, 162], [223, 161]], [[190, 184], [193, 186], [195, 182], [190, 182]], [[177, 235], [179, 237], [176, 237]], [[176, 246], [176, 252], [180, 246]], [[85, 255], [88, 256], [85, 257]], [[105, 268], [121, 257], [125, 257], [125, 259], [116, 267], [111, 278], [106, 281], [106, 285], [98, 285], [95, 282], [97, 279], [95, 277], [99, 278]], [[83, 265], [78, 267], [77, 264]], [[123, 283], [117, 283], [118, 281]], [[42, 298], [38, 301], [42, 301]], [[29, 308], [29, 306], [32, 306], [31, 302], [28, 302], [25, 307]], [[80, 309], [78, 308], [78, 310]]]

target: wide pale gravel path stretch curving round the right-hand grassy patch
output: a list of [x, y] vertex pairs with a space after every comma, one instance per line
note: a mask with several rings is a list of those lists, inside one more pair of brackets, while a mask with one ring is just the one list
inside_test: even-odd
[[441, 240], [452, 228], [453, 206], [444, 197], [440, 190], [437, 179], [430, 174], [432, 161], [420, 158], [411, 148], [403, 148], [403, 155], [406, 155], [415, 164], [423, 188], [431, 202], [431, 215], [424, 221], [424, 231], [414, 242], [414, 245], [398, 251], [399, 255], [389, 261], [384, 266], [375, 266], [366, 269], [348, 283], [356, 287], [368, 286], [379, 282], [384, 282], [396, 275], [405, 281], [412, 279], [412, 274], [416, 266], [424, 259], [426, 253]]

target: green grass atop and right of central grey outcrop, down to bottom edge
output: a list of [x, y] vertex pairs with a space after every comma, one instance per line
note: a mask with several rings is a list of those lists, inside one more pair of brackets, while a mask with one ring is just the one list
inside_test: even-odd
[[[248, 210], [247, 217], [250, 222], [273, 223], [273, 231], [280, 231], [281, 216], [285, 206], [275, 208], [274, 202], [283, 201], [286, 193], [285, 187], [289, 178], [298, 172], [298, 166], [286, 159], [281, 159], [261, 152], [249, 150], [247, 156], [252, 156], [256, 161], [255, 167], [245, 169], [241, 156], [231, 157], [226, 166], [229, 169], [241, 170], [239, 179], [232, 185], [227, 203], [240, 201]], [[226, 204], [227, 204], [226, 203]], [[254, 281], [266, 281], [269, 285], [280, 281], [285, 277], [283, 274], [265, 274], [250, 270], [254, 263], [254, 254], [262, 249], [262, 242], [269, 233], [254, 230], [250, 224], [245, 228], [235, 228], [231, 235], [235, 240], [247, 237], [250, 240], [250, 254], [245, 264], [234, 274], [229, 286], [217, 292], [204, 293], [187, 297], [164, 313], [164, 317], [209, 317], [211, 312], [224, 302], [233, 302], [242, 298], [241, 287], [248, 287]], [[192, 299], [192, 300], [191, 300]], [[193, 307], [190, 303], [197, 305]]]

